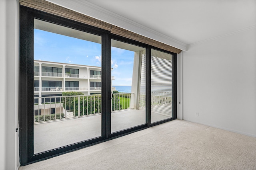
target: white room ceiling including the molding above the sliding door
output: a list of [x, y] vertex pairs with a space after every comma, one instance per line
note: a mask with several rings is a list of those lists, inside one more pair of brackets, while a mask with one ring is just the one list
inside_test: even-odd
[[256, 0], [48, 1], [180, 49], [256, 27]]

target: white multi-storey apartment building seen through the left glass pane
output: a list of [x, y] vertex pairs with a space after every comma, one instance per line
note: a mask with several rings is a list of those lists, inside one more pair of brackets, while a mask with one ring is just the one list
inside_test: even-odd
[[[62, 92], [100, 94], [101, 87], [101, 67], [34, 60], [35, 111], [43, 109], [45, 114], [62, 112], [62, 108], [55, 111], [46, 103], [60, 102], [57, 96], [62, 96]], [[115, 88], [112, 87], [112, 90]], [[60, 103], [55, 105], [62, 107], [57, 106]]]

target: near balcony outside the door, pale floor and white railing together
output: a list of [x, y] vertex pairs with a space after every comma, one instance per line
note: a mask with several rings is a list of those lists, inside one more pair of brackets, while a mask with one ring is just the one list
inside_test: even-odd
[[[135, 109], [132, 106], [133, 97], [133, 93], [113, 95], [111, 107], [112, 132], [146, 123], [146, 111], [144, 108]], [[48, 101], [46, 98], [48, 98]], [[56, 96], [35, 99], [48, 102], [34, 105], [34, 112], [41, 114], [39, 117], [34, 115], [35, 154], [102, 135], [100, 128], [102, 117], [101, 95]], [[74, 106], [74, 103], [76, 106]], [[165, 103], [165, 105], [167, 104]], [[168, 105], [171, 105], [171, 103]], [[158, 107], [158, 109], [155, 109], [155, 107]], [[152, 106], [151, 122], [172, 117], [171, 111], [170, 115], [167, 116], [161, 114], [159, 108], [159, 106]], [[54, 109], [55, 113], [50, 114], [51, 109]]]

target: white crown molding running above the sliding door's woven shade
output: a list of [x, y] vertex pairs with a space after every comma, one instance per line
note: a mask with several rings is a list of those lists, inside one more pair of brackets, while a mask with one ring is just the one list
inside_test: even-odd
[[176, 39], [168, 37], [162, 33], [159, 33], [153, 29], [145, 27], [139, 23], [136, 23], [128, 18], [120, 16], [114, 12], [106, 10], [100, 6], [96, 6], [88, 1], [81, 1], [81, 0], [46, 0], [48, 2], [52, 2], [59, 6], [68, 8], [70, 10], [85, 14], [87, 16], [96, 18], [98, 20], [102, 20], [104, 22], [110, 23], [112, 25], [116, 25], [123, 29], [127, 29], [128, 31], [132, 31], [134, 33], [143, 35], [150, 39], [154, 39], [161, 43], [165, 43], [172, 47], [176, 47], [183, 51], [187, 51], [187, 45], [182, 43]]

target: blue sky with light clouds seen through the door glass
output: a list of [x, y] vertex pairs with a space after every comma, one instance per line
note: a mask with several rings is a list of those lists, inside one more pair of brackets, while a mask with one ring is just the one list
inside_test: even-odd
[[[131, 86], [134, 52], [112, 47], [113, 86]], [[34, 59], [101, 66], [101, 44], [34, 29]]]

